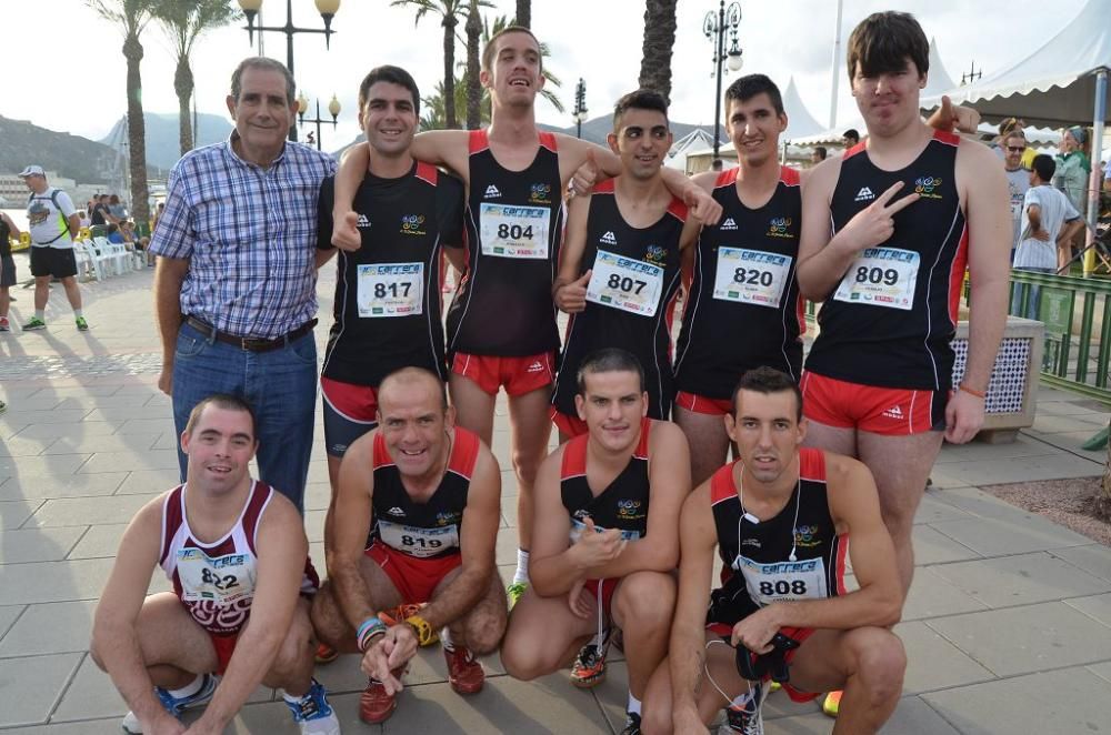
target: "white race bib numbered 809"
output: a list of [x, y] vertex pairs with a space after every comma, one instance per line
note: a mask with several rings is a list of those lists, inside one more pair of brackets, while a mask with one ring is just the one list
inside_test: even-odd
[[921, 260], [912, 250], [868, 248], [849, 266], [833, 300], [909, 311]]

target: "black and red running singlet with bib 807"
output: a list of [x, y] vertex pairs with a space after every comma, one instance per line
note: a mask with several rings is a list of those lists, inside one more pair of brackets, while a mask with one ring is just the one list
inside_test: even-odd
[[601, 348], [634, 354], [644, 369], [648, 415], [665, 421], [674, 399], [671, 320], [679, 290], [679, 239], [687, 205], [672, 199], [667, 212], [643, 229], [621, 217], [613, 180], [590, 198], [587, 245], [579, 274], [593, 270], [587, 308], [568, 320], [552, 405], [575, 415], [579, 365]]

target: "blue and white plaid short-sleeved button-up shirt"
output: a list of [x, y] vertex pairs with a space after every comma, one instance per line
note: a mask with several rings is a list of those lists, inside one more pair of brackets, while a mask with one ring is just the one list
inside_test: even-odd
[[182, 314], [237, 336], [276, 339], [317, 313], [317, 198], [336, 161], [287, 142], [263, 169], [236, 155], [237, 137], [173, 167], [150, 250], [189, 260]]

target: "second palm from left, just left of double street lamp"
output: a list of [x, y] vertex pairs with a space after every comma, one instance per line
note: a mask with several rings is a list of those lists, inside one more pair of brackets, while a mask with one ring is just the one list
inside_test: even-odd
[[170, 37], [178, 60], [173, 70], [173, 91], [178, 95], [178, 143], [184, 155], [193, 149], [189, 119], [189, 100], [193, 95], [189, 56], [193, 43], [206, 31], [233, 20], [239, 11], [231, 7], [230, 0], [154, 0], [153, 13]]

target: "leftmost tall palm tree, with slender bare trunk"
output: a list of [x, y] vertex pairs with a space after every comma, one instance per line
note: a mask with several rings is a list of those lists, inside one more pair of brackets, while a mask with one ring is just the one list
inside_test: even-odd
[[[151, 0], [86, 0], [104, 20], [116, 23], [123, 33], [123, 58], [128, 60], [128, 150], [131, 171], [131, 211], [144, 225], [150, 219], [147, 204], [147, 128], [142, 118], [142, 43], [139, 34], [151, 19]], [[142, 229], [142, 226], [140, 226]]]

